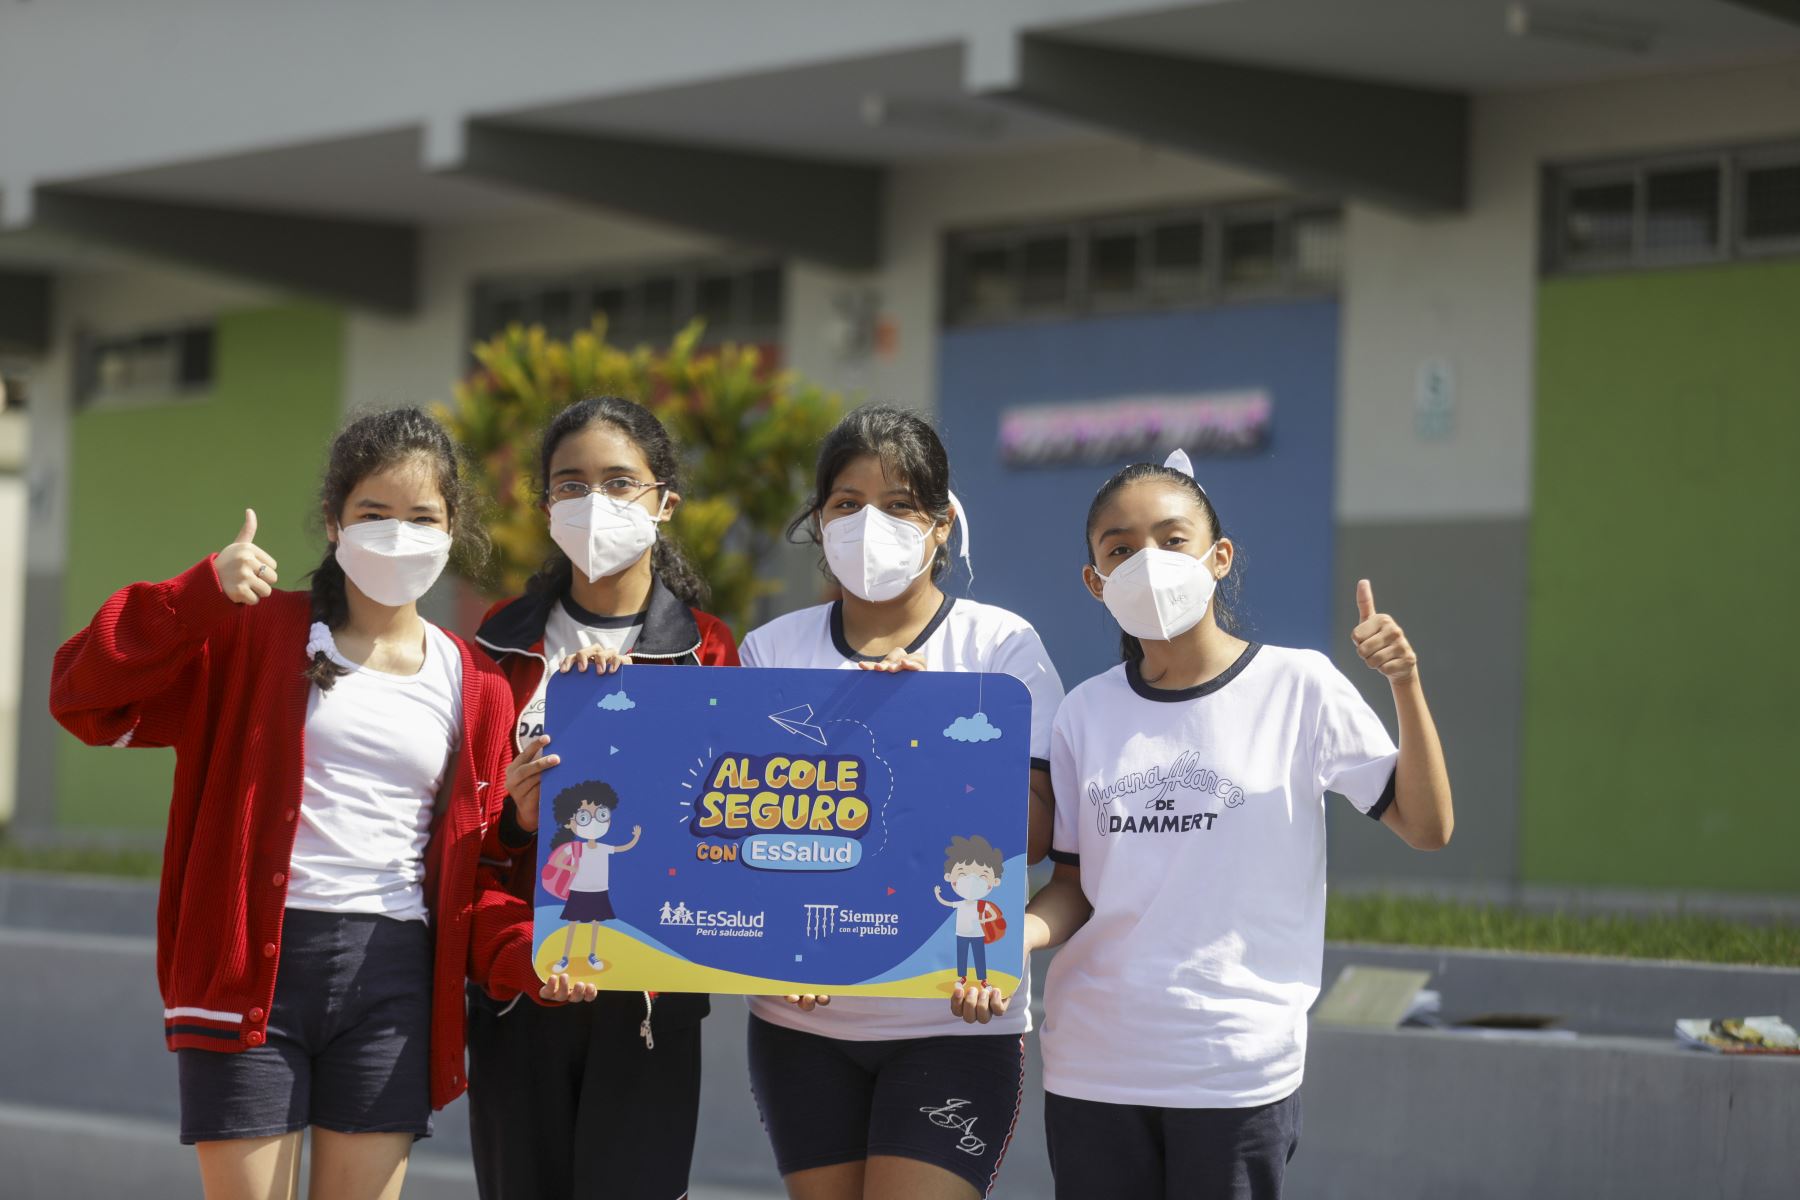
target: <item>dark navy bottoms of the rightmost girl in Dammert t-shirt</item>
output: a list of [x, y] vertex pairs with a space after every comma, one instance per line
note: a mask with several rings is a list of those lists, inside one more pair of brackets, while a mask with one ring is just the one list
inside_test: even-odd
[[1152, 1108], [1044, 1094], [1057, 1200], [1280, 1200], [1300, 1092], [1255, 1108]]

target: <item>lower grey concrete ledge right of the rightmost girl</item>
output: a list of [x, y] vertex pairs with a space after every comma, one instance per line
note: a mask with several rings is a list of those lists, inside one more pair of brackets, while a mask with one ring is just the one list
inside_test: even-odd
[[1800, 1178], [1800, 1060], [1321, 1027], [1303, 1097], [1309, 1200], [1768, 1200]]

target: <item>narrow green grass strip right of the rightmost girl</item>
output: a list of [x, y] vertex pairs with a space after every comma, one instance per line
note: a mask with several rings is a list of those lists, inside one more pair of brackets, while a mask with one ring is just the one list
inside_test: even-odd
[[1415, 896], [1332, 896], [1325, 936], [1453, 950], [1800, 966], [1800, 925], [1750, 925], [1690, 914], [1525, 912]]

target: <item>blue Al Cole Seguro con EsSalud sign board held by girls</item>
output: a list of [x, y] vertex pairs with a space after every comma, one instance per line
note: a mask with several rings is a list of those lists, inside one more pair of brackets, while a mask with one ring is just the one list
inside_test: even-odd
[[551, 680], [540, 975], [1013, 991], [1031, 700], [1008, 675], [626, 666]]

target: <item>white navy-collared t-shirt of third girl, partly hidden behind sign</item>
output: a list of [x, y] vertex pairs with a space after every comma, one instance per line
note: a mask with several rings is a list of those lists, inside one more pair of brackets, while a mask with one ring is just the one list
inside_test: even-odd
[[[925, 657], [929, 671], [995, 671], [1021, 680], [1031, 693], [1031, 766], [1049, 766], [1049, 723], [1062, 703], [1062, 680], [1044, 651], [1037, 630], [1024, 617], [994, 604], [945, 597], [938, 615], [907, 646]], [[823, 667], [855, 671], [859, 655], [844, 640], [837, 604], [801, 608], [751, 630], [738, 648], [747, 667]], [[958, 927], [961, 927], [958, 912]], [[977, 925], [979, 930], [979, 925]], [[763, 1020], [850, 1042], [891, 1042], [950, 1033], [1024, 1033], [1031, 1027], [1031, 973], [1012, 999], [1004, 1016], [970, 1025], [950, 1016], [943, 1000], [889, 997], [833, 997], [828, 1007], [799, 1011], [781, 997], [751, 997], [751, 1011]]]

